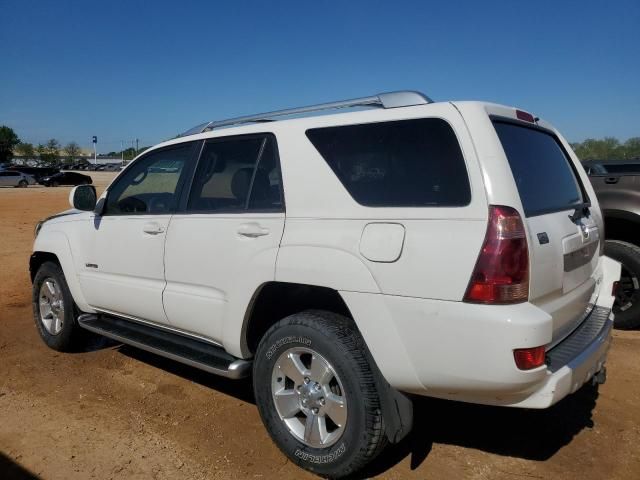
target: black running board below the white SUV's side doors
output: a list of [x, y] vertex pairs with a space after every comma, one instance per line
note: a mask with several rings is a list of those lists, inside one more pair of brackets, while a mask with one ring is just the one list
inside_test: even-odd
[[243, 378], [251, 361], [236, 358], [222, 348], [140, 323], [105, 315], [83, 314], [78, 324], [91, 332], [227, 378]]

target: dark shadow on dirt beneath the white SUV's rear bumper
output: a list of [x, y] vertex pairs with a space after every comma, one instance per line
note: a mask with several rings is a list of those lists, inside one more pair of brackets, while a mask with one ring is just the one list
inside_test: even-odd
[[543, 461], [555, 455], [584, 428], [592, 428], [598, 387], [585, 385], [546, 410], [488, 407], [447, 400], [414, 398], [412, 432], [390, 445], [357, 478], [379, 475], [410, 457], [412, 470], [434, 443]]

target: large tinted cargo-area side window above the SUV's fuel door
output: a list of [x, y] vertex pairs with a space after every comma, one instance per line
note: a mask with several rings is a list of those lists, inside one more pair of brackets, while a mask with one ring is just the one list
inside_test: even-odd
[[369, 207], [459, 207], [471, 201], [455, 133], [438, 118], [307, 130], [354, 200]]

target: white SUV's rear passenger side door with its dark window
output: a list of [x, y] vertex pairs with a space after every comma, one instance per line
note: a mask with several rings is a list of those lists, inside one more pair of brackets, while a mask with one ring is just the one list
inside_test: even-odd
[[226, 319], [242, 318], [273, 281], [284, 229], [273, 135], [208, 140], [188, 199], [171, 219], [164, 307], [172, 326], [224, 343]]

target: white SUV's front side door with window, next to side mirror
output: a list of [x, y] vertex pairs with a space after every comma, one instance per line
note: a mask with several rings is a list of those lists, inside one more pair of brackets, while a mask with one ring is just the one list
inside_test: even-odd
[[[198, 143], [200, 145], [200, 143]], [[109, 187], [93, 242], [80, 266], [87, 303], [156, 323], [162, 307], [164, 249], [196, 142], [154, 150], [136, 160]]]

